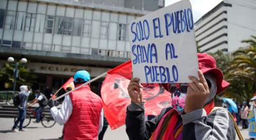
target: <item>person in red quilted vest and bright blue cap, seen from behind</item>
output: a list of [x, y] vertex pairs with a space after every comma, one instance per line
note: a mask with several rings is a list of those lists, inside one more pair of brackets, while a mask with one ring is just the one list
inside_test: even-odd
[[[77, 71], [74, 75], [75, 87], [89, 80], [90, 74], [87, 71]], [[65, 124], [64, 139], [97, 140], [103, 125], [102, 101], [91, 91], [90, 85], [83, 85], [66, 95], [60, 109], [50, 101], [48, 105], [52, 118], [60, 125]]]

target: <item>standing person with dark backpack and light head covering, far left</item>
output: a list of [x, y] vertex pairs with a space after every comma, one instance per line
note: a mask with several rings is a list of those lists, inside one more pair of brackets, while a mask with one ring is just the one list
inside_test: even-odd
[[[29, 91], [29, 87], [26, 85], [22, 85], [20, 86], [19, 94], [13, 97], [13, 104], [14, 106], [17, 106], [19, 110], [19, 116], [12, 127], [12, 132], [26, 131], [26, 129], [23, 128], [23, 122], [26, 118], [26, 107], [28, 102], [28, 96], [30, 93], [31, 91]], [[19, 130], [17, 130], [18, 123], [20, 123]]]

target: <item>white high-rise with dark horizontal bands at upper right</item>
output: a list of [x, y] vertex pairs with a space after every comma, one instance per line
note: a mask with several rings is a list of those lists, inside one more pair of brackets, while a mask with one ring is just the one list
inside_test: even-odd
[[256, 1], [223, 0], [195, 22], [202, 52], [234, 52], [244, 39], [256, 35]]

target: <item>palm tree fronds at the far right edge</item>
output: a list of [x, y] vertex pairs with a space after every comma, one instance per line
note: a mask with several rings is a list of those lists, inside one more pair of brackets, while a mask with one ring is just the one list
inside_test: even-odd
[[249, 46], [232, 53], [226, 74], [231, 84], [226, 95], [235, 97], [237, 101], [249, 101], [256, 92], [256, 37], [242, 42]]

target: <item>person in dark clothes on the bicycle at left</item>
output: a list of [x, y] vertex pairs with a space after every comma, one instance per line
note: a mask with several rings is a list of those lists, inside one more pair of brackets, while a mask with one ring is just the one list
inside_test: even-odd
[[33, 106], [33, 104], [36, 104], [38, 102], [39, 107], [36, 108], [36, 120], [34, 123], [39, 123], [41, 120], [42, 112], [44, 111], [45, 106], [47, 106], [48, 99], [47, 97], [40, 92], [40, 90], [35, 90], [35, 99], [31, 101], [29, 106]]

